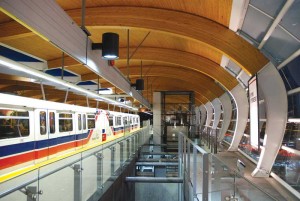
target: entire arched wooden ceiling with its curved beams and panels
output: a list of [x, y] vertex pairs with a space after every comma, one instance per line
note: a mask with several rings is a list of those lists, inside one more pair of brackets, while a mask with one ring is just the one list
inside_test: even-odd
[[[77, 24], [81, 23], [81, 0], [56, 2]], [[231, 90], [238, 82], [220, 67], [222, 55], [249, 75], [268, 62], [256, 48], [228, 29], [232, 0], [87, 0], [86, 7], [85, 24], [91, 40], [100, 42], [105, 32], [119, 34], [120, 59], [116, 67], [125, 76], [130, 30], [129, 76], [131, 81], [139, 76], [142, 60], [143, 77], [153, 82], [152, 90], [143, 92], [150, 102], [154, 90], [195, 91], [197, 103], [224, 93], [216, 82]], [[0, 28], [5, 30], [0, 33], [0, 42], [46, 60], [49, 68], [61, 66], [61, 50], [3, 14]], [[65, 57], [65, 66], [81, 75], [82, 80], [97, 80], [96, 74], [71, 57]], [[111, 86], [105, 80], [100, 82], [104, 87]]]

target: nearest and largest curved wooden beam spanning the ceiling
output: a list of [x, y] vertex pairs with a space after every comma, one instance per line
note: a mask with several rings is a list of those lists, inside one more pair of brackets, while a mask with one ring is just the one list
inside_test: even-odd
[[[66, 11], [80, 22], [81, 9]], [[228, 28], [203, 17], [166, 9], [94, 7], [86, 9], [86, 26], [123, 26], [168, 32], [208, 44], [236, 62], [249, 75], [268, 63], [267, 58]]]

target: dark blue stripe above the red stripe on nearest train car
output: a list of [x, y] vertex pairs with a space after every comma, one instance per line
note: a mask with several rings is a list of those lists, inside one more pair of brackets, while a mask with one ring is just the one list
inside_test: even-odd
[[89, 132], [83, 134], [63, 136], [53, 139], [46, 139], [41, 141], [25, 142], [19, 144], [12, 144], [0, 147], [0, 157], [5, 157], [12, 154], [17, 154], [21, 152], [31, 151], [33, 149], [42, 149], [46, 147], [51, 147], [71, 141], [82, 140], [88, 137]]

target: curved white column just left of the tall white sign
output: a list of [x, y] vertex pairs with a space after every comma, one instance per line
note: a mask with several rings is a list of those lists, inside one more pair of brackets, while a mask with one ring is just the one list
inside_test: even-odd
[[237, 85], [236, 87], [234, 87], [231, 90], [231, 95], [236, 104], [237, 117], [233, 138], [228, 151], [237, 151], [247, 125], [249, 103], [247, 93], [241, 87], [241, 85]]

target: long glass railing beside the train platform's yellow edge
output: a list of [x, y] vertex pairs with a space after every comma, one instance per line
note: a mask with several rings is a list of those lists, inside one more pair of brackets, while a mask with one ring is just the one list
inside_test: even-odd
[[99, 200], [149, 139], [149, 126], [0, 183], [0, 200]]

